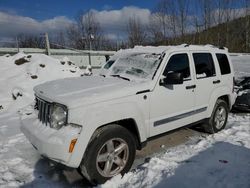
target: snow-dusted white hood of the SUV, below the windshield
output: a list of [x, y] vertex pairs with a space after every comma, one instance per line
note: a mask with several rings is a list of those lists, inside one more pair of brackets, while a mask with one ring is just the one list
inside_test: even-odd
[[44, 100], [72, 108], [135, 95], [148, 89], [148, 81], [133, 82], [121, 78], [85, 76], [46, 82], [36, 86], [34, 91]]

